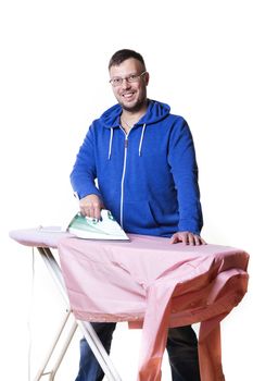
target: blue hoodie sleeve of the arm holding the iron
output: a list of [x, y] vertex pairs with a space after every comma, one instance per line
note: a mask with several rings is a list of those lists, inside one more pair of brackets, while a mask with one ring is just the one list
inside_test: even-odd
[[96, 177], [94, 130], [91, 125], [77, 153], [71, 173], [72, 187], [79, 199], [90, 194], [101, 197], [99, 189], [96, 187]]

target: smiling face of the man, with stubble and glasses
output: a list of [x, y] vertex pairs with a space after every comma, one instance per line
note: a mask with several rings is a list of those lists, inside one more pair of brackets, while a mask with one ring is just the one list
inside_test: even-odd
[[[119, 65], [111, 66], [110, 77], [127, 78], [132, 75], [139, 76], [144, 72], [144, 67], [140, 61], [130, 58], [125, 60]], [[114, 96], [118, 103], [126, 111], [139, 111], [147, 101], [147, 85], [149, 83], [149, 74], [144, 73], [137, 78], [136, 82], [128, 82], [124, 79], [118, 86], [112, 86]]]

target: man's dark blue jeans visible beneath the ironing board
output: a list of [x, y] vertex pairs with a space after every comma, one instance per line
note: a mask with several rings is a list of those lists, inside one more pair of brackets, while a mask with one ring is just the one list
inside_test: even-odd
[[[92, 323], [104, 348], [110, 353], [116, 323]], [[200, 381], [198, 341], [191, 325], [169, 329], [167, 353], [173, 381]], [[79, 372], [75, 381], [102, 381], [103, 370], [85, 339], [80, 341]]]

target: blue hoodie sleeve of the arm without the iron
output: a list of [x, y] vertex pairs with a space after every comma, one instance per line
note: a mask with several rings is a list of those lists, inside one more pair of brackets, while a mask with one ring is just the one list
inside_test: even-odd
[[198, 165], [192, 135], [187, 122], [178, 118], [172, 127], [168, 163], [177, 190], [179, 231], [200, 234], [203, 218], [198, 184]]

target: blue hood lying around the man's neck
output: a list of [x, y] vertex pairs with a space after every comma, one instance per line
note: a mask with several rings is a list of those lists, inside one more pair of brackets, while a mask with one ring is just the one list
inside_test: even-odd
[[[100, 118], [100, 121], [106, 128], [114, 128], [119, 126], [119, 116], [122, 114], [122, 106], [119, 103], [114, 105], [107, 109]], [[166, 103], [150, 100], [146, 114], [139, 120], [138, 124], [150, 125], [161, 122], [167, 118], [170, 112], [170, 107]]]

